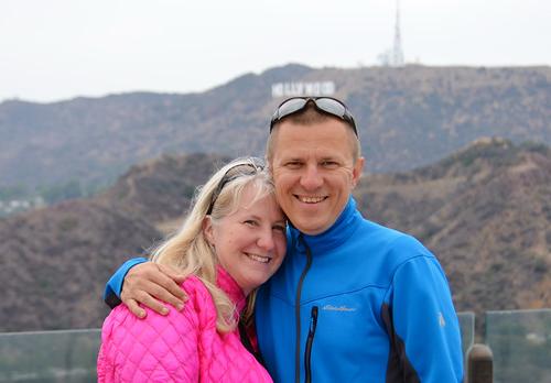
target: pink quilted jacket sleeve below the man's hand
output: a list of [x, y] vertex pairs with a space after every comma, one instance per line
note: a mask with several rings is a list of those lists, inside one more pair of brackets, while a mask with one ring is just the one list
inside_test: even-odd
[[98, 382], [198, 382], [199, 326], [195, 305], [136, 318], [125, 305], [101, 329]]

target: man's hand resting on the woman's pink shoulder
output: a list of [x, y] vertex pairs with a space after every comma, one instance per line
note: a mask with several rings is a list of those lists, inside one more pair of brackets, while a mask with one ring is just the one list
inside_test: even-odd
[[163, 302], [181, 310], [187, 300], [187, 296], [180, 287], [184, 280], [183, 275], [170, 266], [153, 262], [141, 263], [130, 269], [125, 276], [120, 299], [139, 318], [145, 317], [145, 310], [138, 304], [161, 315], [169, 314], [169, 308]]

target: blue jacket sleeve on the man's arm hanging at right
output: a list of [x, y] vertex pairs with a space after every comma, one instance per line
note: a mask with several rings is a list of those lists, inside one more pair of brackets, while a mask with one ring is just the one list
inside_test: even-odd
[[392, 283], [391, 337], [403, 382], [462, 382], [463, 352], [450, 287], [432, 254], [400, 265]]

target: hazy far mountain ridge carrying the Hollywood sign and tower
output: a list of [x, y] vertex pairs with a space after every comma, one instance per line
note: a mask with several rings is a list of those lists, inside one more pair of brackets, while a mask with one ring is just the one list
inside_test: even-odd
[[[551, 67], [288, 65], [202, 94], [122, 94], [0, 103], [0, 188], [114, 182], [163, 153], [259, 155], [284, 81], [334, 81], [355, 113], [368, 169], [409, 171], [479, 136], [551, 144]], [[58, 192], [58, 190], [56, 190]], [[69, 193], [69, 194], [71, 194]], [[62, 194], [63, 195], [63, 194]]]

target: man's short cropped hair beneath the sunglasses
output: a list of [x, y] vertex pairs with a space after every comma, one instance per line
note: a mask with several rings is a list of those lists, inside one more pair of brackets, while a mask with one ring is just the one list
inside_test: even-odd
[[[315, 108], [313, 102], [309, 102], [304, 107], [304, 110], [296, 112], [296, 113], [293, 113], [293, 114], [289, 114], [289, 116], [284, 117], [281, 121], [278, 121], [273, 125], [272, 131], [268, 135], [268, 140], [266, 142], [266, 162], [267, 162], [267, 164], [270, 166], [271, 162], [273, 160], [273, 153], [276, 151], [276, 141], [277, 141], [276, 136], [279, 132], [279, 127], [281, 125], [282, 121], [289, 121], [289, 122], [298, 124], [298, 125], [310, 127], [310, 125], [314, 125], [316, 123], [325, 122], [325, 121], [331, 120], [331, 119], [342, 121], [342, 120], [338, 120], [336, 117], [333, 117], [331, 114], [323, 113], [323, 112], [318, 111]], [[349, 128], [348, 133], [349, 133], [349, 139], [350, 139], [350, 144], [352, 144], [352, 157], [354, 160], [354, 163], [356, 163], [356, 161], [361, 155], [361, 143], [360, 143], [358, 136], [354, 133], [352, 125], [346, 121], [343, 121], [343, 123], [345, 123], [347, 125], [347, 128]]]

